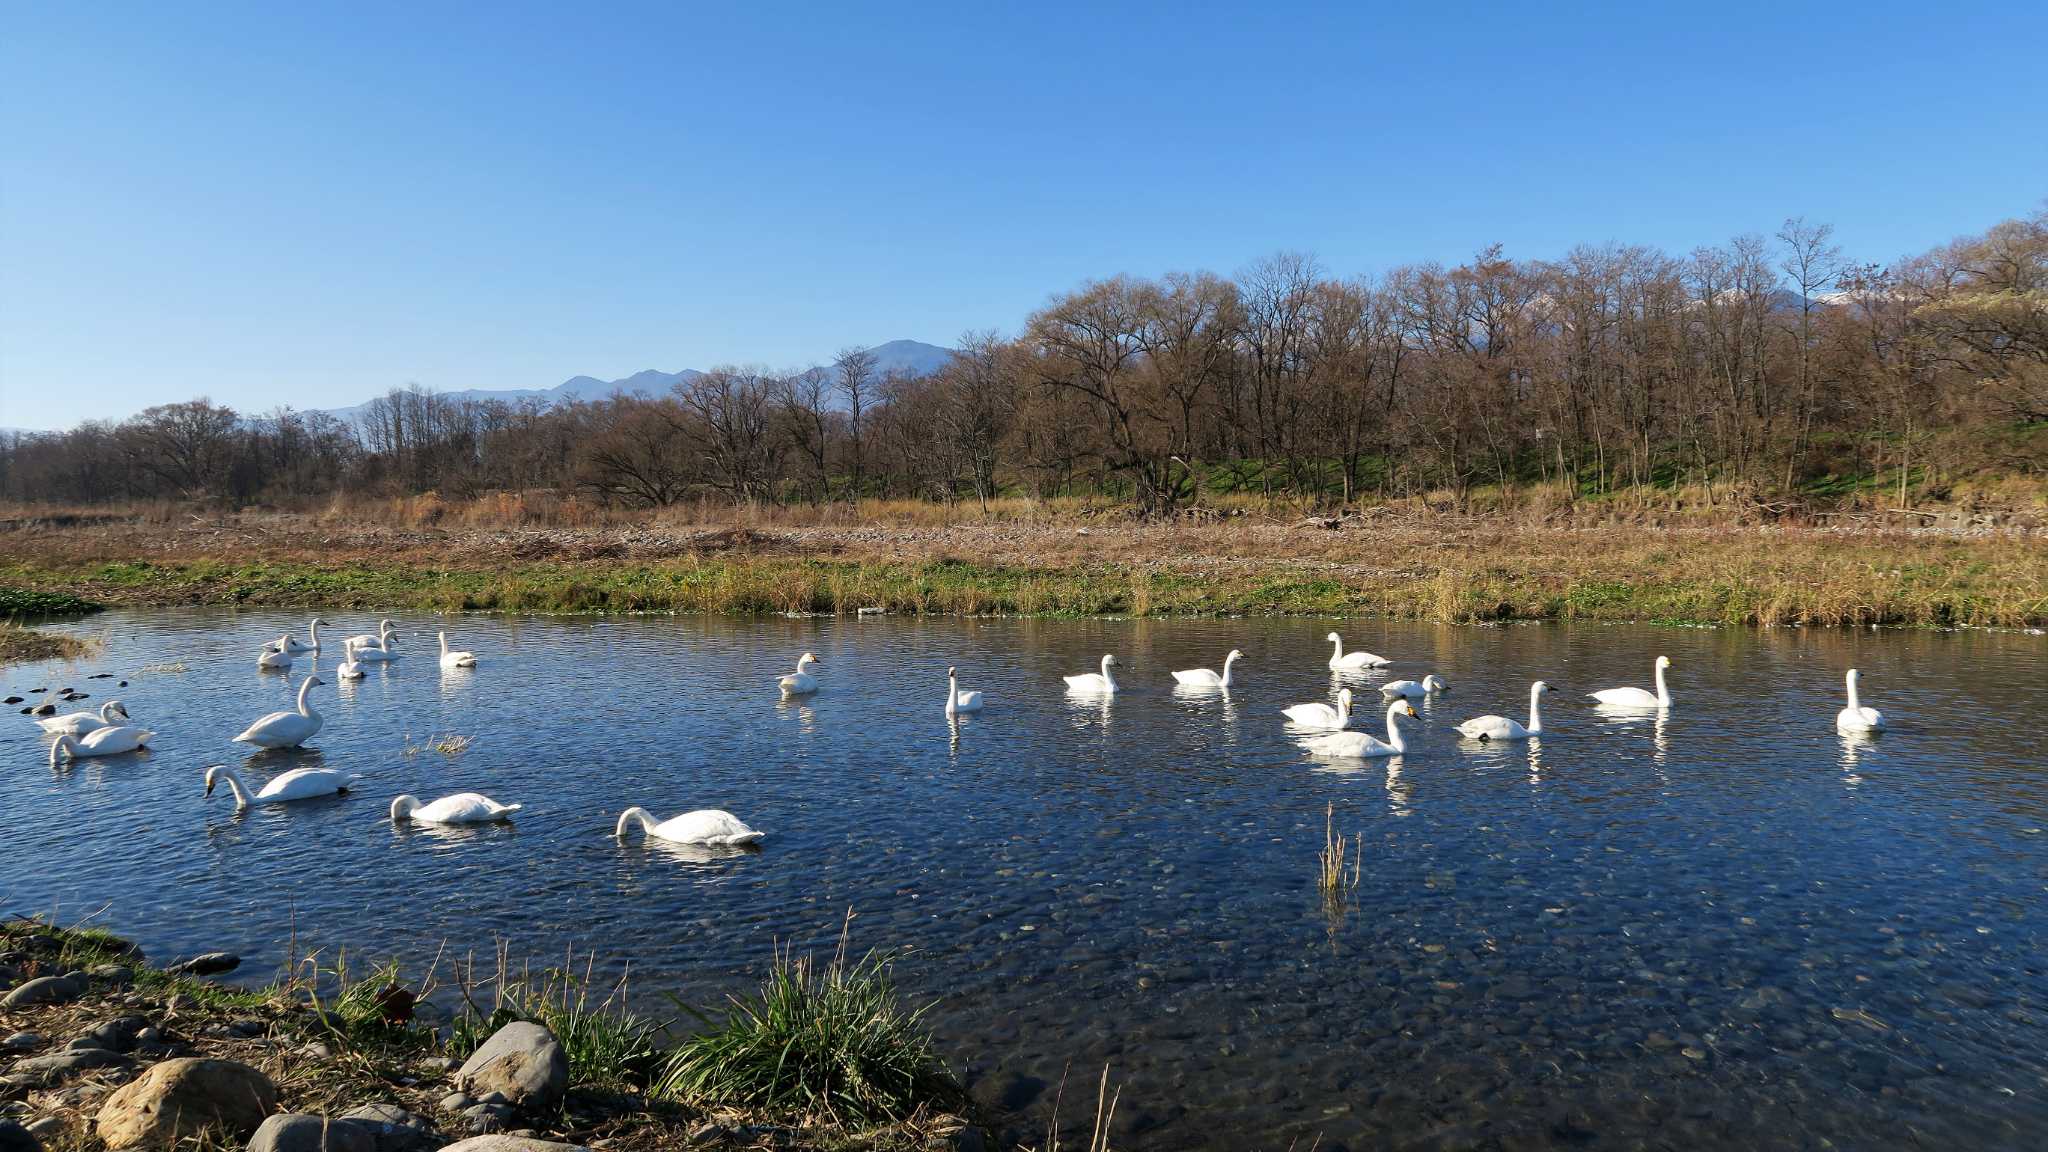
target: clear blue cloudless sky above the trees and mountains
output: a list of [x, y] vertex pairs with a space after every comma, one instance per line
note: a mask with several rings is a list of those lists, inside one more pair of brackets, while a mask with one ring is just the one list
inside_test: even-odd
[[2048, 197], [2048, 6], [0, 0], [0, 426], [1016, 330], [1112, 273]]

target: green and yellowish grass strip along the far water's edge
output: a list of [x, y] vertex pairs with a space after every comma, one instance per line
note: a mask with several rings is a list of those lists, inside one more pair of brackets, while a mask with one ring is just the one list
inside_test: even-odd
[[[1579, 553], [1583, 551], [1583, 556]], [[840, 613], [1030, 617], [1350, 615], [1710, 625], [2030, 627], [2048, 623], [2048, 558], [2023, 541], [1915, 549], [1835, 539], [1688, 549], [1475, 551], [1374, 576], [1290, 562], [1221, 572], [715, 556], [426, 568], [301, 562], [0, 566], [29, 594], [115, 605], [508, 613]], [[80, 601], [84, 603], [84, 601]]]

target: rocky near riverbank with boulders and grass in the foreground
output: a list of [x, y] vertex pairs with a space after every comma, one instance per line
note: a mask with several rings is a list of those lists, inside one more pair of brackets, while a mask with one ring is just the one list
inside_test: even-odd
[[[344, 953], [305, 957], [256, 988], [207, 978], [236, 963], [215, 953], [178, 972], [145, 963], [102, 931], [0, 922], [0, 1148], [98, 1152], [197, 1140], [262, 1152], [430, 1152], [510, 1134], [625, 1152], [952, 1152], [989, 1140], [956, 1109], [938, 1107], [965, 1105], [965, 1095], [942, 1064], [918, 1068], [930, 1054], [915, 1037], [870, 1031], [858, 1037], [868, 1047], [856, 1058], [834, 1052], [848, 1076], [866, 1074], [860, 1086], [842, 1080], [838, 1095], [831, 1072], [819, 1072], [825, 1064], [809, 1068], [799, 1091], [786, 1078], [770, 1082], [782, 1066], [750, 1080], [758, 1070], [727, 1045], [719, 1056], [733, 1062], [721, 1064], [731, 1074], [717, 1084], [727, 1093], [719, 1097], [676, 1072], [700, 1066], [682, 1058], [690, 1041], [664, 1047], [653, 1021], [575, 988], [573, 972], [514, 982], [502, 968], [487, 984], [457, 974], [453, 992], [467, 1009], [434, 1027], [426, 1021], [434, 974], [350, 974]], [[770, 986], [788, 976], [778, 963]], [[829, 1011], [844, 986], [858, 986], [862, 1027], [877, 1015], [915, 1025], [885, 982], [860, 984], [860, 965], [811, 970], [809, 980], [813, 1011]], [[803, 1021], [813, 1043], [838, 1035], [819, 1021]], [[731, 1041], [735, 1029], [709, 1035]], [[791, 1066], [815, 1056], [782, 1054]], [[887, 1095], [889, 1072], [913, 1074], [901, 1086], [924, 1095]], [[823, 1097], [807, 1095], [821, 1084]], [[741, 1099], [745, 1088], [772, 1095]], [[180, 1109], [184, 1119], [174, 1119]]]

